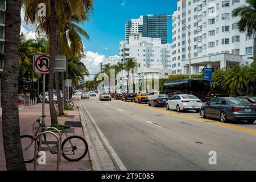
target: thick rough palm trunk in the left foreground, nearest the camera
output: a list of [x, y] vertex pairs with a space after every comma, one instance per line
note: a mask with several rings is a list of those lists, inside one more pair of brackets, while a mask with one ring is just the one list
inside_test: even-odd
[[2, 81], [2, 130], [8, 171], [25, 171], [18, 109], [20, 0], [6, 2], [5, 59]]

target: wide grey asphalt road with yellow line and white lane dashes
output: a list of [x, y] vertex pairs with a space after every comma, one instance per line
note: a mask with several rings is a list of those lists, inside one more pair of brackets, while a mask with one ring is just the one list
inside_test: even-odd
[[[134, 102], [82, 100], [128, 170], [255, 170], [256, 124]], [[209, 152], [217, 164], [209, 164]]]

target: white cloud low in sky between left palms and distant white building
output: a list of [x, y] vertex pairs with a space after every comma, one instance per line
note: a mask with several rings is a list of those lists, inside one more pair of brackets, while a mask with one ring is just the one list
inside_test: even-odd
[[98, 52], [87, 51], [85, 52], [85, 56], [85, 58], [82, 58], [82, 63], [85, 64], [89, 73], [97, 74], [98, 72], [100, 72], [100, 64], [106, 61], [105, 55], [101, 55]]

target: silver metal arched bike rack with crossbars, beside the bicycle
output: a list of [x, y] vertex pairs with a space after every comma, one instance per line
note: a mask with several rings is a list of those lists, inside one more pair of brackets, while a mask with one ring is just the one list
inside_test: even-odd
[[[60, 131], [59, 131], [59, 133], [60, 133]], [[46, 134], [53, 135], [56, 138], [57, 141], [42, 141], [42, 136], [46, 135]], [[37, 145], [38, 140], [39, 140], [39, 147]], [[42, 144], [55, 144], [56, 146], [54, 146], [54, 147], [41, 147]], [[60, 156], [61, 156], [60, 138], [57, 137], [57, 135], [55, 133], [53, 133], [52, 131], [44, 131], [43, 133], [40, 133], [38, 135], [38, 137], [36, 137], [35, 151], [34, 151], [34, 171], [36, 171], [36, 159], [37, 159], [38, 151], [57, 151], [57, 171], [59, 171]]]

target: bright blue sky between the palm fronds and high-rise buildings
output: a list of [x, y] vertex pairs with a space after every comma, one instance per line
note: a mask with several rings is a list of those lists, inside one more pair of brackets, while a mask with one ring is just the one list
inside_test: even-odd
[[[94, 14], [81, 25], [90, 36], [83, 38], [85, 51], [98, 52], [106, 57], [118, 55], [119, 41], [125, 38], [125, 22], [140, 15], [172, 14], [176, 0], [96, 0]], [[168, 42], [171, 42], [169, 20]]]

